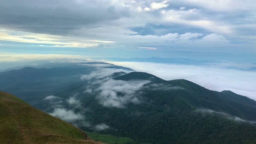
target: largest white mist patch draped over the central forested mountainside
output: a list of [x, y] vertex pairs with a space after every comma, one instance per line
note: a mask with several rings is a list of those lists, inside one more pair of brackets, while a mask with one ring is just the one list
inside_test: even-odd
[[[99, 91], [96, 98], [103, 106], [124, 108], [127, 103], [138, 103], [139, 100], [135, 95], [136, 90], [140, 89], [143, 84], [150, 81], [113, 80], [110, 76], [115, 72], [129, 73], [132, 71], [115, 68], [98, 68], [88, 75], [82, 75], [81, 80], [87, 80], [89, 81], [88, 84], [90, 84], [84, 93], [92, 93], [91, 87], [95, 88], [93, 90], [94, 92]], [[90, 80], [93, 78], [95, 80], [91, 83]]]

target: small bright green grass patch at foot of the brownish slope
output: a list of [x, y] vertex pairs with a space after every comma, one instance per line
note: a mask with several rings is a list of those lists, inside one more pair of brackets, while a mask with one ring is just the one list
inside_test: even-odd
[[88, 136], [96, 141], [99, 142], [104, 142], [104, 143], [108, 143], [108, 144], [126, 144], [128, 142], [130, 142], [130, 144], [134, 143], [135, 141], [132, 140], [131, 138], [117, 138], [115, 136], [111, 136], [108, 134], [99, 134], [96, 132], [86, 132], [88, 134]]

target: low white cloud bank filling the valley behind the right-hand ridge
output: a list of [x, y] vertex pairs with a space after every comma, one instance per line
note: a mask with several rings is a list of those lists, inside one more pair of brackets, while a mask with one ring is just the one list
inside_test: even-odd
[[[217, 63], [192, 66], [152, 62], [112, 62], [135, 71], [148, 72], [164, 80], [186, 79], [210, 90], [231, 90], [256, 100], [256, 72], [226, 68], [229, 65], [243, 68], [244, 64]], [[250, 65], [251, 66], [251, 65]]]

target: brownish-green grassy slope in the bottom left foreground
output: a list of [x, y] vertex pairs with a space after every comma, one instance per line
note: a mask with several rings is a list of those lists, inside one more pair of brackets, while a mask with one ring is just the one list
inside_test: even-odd
[[0, 140], [6, 144], [100, 144], [86, 140], [78, 128], [2, 91], [0, 91]]

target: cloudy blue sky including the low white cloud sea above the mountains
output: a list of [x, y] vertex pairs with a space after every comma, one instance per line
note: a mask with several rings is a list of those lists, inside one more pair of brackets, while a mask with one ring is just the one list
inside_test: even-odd
[[[252, 98], [256, 72], [239, 69], [256, 67], [255, 6], [254, 0], [1, 0], [0, 63], [102, 60]], [[152, 57], [214, 64], [129, 60]]]

